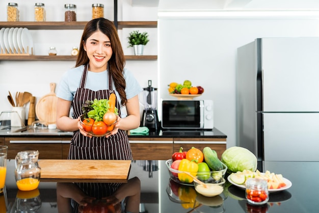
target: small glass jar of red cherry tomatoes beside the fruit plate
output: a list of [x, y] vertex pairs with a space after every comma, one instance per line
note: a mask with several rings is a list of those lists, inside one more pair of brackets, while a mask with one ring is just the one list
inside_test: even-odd
[[267, 180], [248, 178], [246, 180], [246, 198], [249, 203], [254, 205], [267, 203], [269, 200]]

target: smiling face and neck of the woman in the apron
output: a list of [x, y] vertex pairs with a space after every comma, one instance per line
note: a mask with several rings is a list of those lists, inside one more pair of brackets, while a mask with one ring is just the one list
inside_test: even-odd
[[106, 70], [113, 54], [110, 38], [96, 31], [84, 42], [83, 46], [90, 60], [89, 70], [92, 72]]

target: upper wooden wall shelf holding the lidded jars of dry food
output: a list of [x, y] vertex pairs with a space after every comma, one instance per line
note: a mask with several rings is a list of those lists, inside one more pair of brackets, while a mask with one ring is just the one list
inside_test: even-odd
[[[0, 28], [28, 28], [29, 30], [83, 30], [87, 21], [0, 21]], [[118, 29], [157, 28], [157, 21], [118, 21]]]

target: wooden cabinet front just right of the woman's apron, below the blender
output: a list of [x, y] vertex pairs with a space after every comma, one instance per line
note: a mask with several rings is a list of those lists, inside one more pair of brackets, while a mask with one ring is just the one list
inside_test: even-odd
[[164, 160], [172, 157], [173, 140], [154, 138], [130, 138], [134, 160]]

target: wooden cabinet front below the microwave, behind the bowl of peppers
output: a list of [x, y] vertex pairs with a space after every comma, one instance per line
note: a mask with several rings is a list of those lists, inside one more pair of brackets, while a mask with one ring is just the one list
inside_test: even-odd
[[203, 150], [206, 146], [214, 149], [217, 152], [218, 158], [222, 157], [223, 152], [226, 150], [226, 139], [225, 138], [174, 138], [173, 151], [178, 152], [180, 147], [183, 147], [183, 151], [187, 151], [192, 147]]

